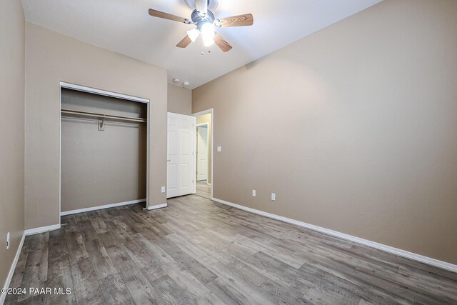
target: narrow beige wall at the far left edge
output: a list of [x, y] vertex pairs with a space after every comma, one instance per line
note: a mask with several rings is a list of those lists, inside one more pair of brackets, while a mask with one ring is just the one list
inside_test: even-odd
[[[0, 283], [24, 232], [24, 50], [21, 1], [0, 2]], [[11, 246], [6, 250], [6, 234]]]

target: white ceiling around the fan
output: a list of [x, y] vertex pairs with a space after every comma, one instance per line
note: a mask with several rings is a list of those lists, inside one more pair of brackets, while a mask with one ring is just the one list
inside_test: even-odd
[[161, 66], [169, 71], [169, 82], [177, 77], [194, 89], [381, 1], [223, 0], [214, 11], [216, 18], [254, 16], [253, 26], [217, 29], [233, 46], [227, 53], [216, 45], [204, 48], [201, 39], [179, 49], [176, 44], [193, 26], [148, 14], [151, 8], [190, 19], [185, 0], [22, 0], [22, 4], [27, 21]]

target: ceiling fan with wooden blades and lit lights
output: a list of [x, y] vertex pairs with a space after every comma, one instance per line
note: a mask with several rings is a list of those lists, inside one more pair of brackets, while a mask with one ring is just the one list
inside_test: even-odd
[[251, 26], [253, 25], [253, 16], [252, 14], [243, 14], [216, 19], [213, 12], [208, 9], [209, 4], [210, 0], [195, 0], [195, 9], [192, 11], [191, 20], [173, 14], [167, 14], [163, 11], [156, 11], [155, 9], [149, 9], [149, 15], [182, 22], [184, 24], [196, 25], [194, 29], [187, 31], [186, 37], [176, 45], [179, 48], [186, 48], [191, 42], [196, 41], [201, 34], [204, 46], [211, 46], [216, 43], [222, 51], [230, 51], [232, 46], [221, 36], [216, 34], [215, 28]]

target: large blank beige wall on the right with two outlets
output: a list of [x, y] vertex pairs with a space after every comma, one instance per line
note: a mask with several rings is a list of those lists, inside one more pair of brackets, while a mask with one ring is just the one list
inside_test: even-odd
[[195, 89], [214, 196], [457, 264], [456, 16], [386, 0]]

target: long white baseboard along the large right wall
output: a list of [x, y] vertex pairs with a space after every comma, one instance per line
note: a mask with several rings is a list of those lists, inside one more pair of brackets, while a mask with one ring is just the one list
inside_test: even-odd
[[446, 269], [446, 270], [449, 270], [449, 271], [457, 272], [457, 265], [446, 263], [446, 261], [439, 261], [438, 259], [432, 259], [431, 257], [428, 257], [428, 256], [423, 256], [423, 255], [416, 254], [416, 253], [413, 253], [413, 252], [409, 252], [409, 251], [405, 251], [405, 250], [402, 250], [402, 249], [394, 248], [392, 246], [387, 246], [385, 244], [379, 244], [379, 243], [377, 243], [375, 241], [368, 241], [367, 239], [361, 239], [360, 237], [357, 237], [357, 236], [352, 236], [352, 235], [344, 234], [344, 233], [341, 233], [341, 232], [338, 232], [338, 231], [333, 231], [331, 229], [322, 228], [321, 226], [315, 226], [313, 224], [307, 224], [306, 222], [298, 221], [298, 220], [295, 220], [295, 219], [290, 219], [290, 218], [283, 217], [283, 216], [278, 216], [276, 214], [267, 213], [265, 211], [251, 209], [251, 208], [248, 208], [247, 206], [241, 206], [239, 204], [233, 204], [233, 203], [231, 203], [229, 201], [225, 201], [225, 200], [222, 200], [222, 199], [213, 198], [212, 200], [216, 201], [216, 202], [219, 202], [219, 204], [225, 204], [227, 206], [233, 206], [236, 209], [241, 209], [243, 211], [248, 211], [248, 212], [253, 213], [253, 214], [258, 214], [258, 215], [265, 216], [265, 217], [268, 217], [268, 218], [271, 218], [271, 219], [276, 219], [276, 220], [279, 220], [279, 221], [286, 222], [288, 224], [295, 224], [296, 226], [302, 226], [303, 228], [306, 228], [306, 229], [311, 229], [313, 231], [318, 231], [318, 232], [321, 232], [323, 234], [336, 236], [336, 237], [339, 237], [341, 239], [346, 239], [348, 241], [356, 242], [358, 244], [371, 246], [372, 248], [375, 248], [375, 249], [378, 249], [378, 250], [381, 250], [381, 251], [386, 251], [386, 252], [391, 253], [391, 254], [396, 254], [398, 256], [405, 257], [406, 259], [413, 259], [414, 261], [420, 261], [423, 264], [428, 264], [428, 265], [431, 265], [431, 266], [436, 266], [436, 267], [441, 268], [441, 269]]

